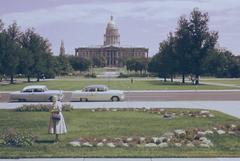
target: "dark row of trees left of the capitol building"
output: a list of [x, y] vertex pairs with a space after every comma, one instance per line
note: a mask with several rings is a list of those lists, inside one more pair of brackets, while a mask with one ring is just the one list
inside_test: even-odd
[[21, 75], [37, 81], [43, 76], [68, 74], [73, 70], [88, 70], [91, 65], [84, 58], [61, 55], [54, 56], [49, 41], [36, 33], [33, 28], [21, 31], [16, 22], [5, 27], [0, 19], [0, 81]]

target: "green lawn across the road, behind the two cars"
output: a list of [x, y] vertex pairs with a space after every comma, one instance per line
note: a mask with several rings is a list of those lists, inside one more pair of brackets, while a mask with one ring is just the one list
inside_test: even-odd
[[233, 89], [231, 87], [214, 86], [214, 85], [191, 85], [189, 83], [182, 84], [179, 82], [163, 82], [153, 79], [134, 79], [131, 83], [130, 79], [62, 79], [62, 80], [48, 80], [32, 83], [17, 83], [17, 84], [0, 84], [1, 91], [16, 91], [21, 90], [23, 87], [32, 84], [47, 85], [49, 89], [58, 90], [77, 90], [82, 89], [84, 86], [91, 84], [105, 84], [112, 89], [121, 90], [220, 90], [220, 89]]

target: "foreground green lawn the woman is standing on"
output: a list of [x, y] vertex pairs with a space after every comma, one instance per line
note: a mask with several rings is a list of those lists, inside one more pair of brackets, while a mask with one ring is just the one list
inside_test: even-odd
[[[173, 109], [175, 111], [181, 111]], [[80, 137], [159, 136], [174, 129], [208, 129], [218, 124], [240, 124], [240, 120], [219, 112], [214, 118], [176, 117], [168, 120], [148, 112], [118, 111], [91, 112], [74, 110], [64, 112], [68, 133], [58, 144], [47, 143], [54, 136], [47, 134], [48, 112], [15, 112], [0, 110], [0, 129], [7, 127], [30, 130], [42, 143], [31, 147], [12, 147], [0, 144], [1, 158], [17, 157], [240, 157], [240, 137], [213, 135], [212, 148], [108, 148], [72, 147], [70, 141]]]

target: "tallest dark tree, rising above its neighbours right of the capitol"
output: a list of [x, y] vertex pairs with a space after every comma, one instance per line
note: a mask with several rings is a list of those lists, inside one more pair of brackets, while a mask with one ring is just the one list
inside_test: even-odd
[[191, 52], [191, 72], [196, 76], [196, 84], [199, 83], [199, 75], [203, 72], [202, 64], [218, 40], [218, 33], [209, 31], [208, 13], [202, 13], [194, 9], [190, 14], [190, 52]]

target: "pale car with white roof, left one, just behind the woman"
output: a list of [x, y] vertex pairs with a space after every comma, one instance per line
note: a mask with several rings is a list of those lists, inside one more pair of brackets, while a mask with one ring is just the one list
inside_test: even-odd
[[64, 97], [61, 90], [48, 90], [45, 85], [32, 85], [11, 93], [10, 101], [52, 101], [53, 96], [58, 96], [60, 100]]

